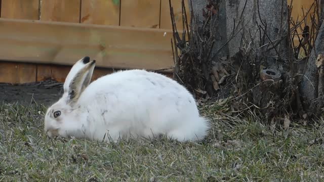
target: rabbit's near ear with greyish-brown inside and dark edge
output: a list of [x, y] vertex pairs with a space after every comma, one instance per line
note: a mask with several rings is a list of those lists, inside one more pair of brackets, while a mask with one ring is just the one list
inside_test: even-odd
[[80, 67], [80, 69], [73, 75], [68, 85], [68, 104], [73, 105], [78, 100], [83, 90], [90, 84], [95, 65], [95, 60], [88, 62], [83, 67]]

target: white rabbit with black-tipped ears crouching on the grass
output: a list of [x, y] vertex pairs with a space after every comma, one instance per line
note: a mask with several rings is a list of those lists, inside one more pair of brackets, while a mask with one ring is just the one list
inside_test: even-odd
[[[62, 98], [45, 115], [45, 132], [52, 138], [95, 141], [166, 135], [198, 141], [209, 122], [200, 117], [195, 100], [175, 80], [145, 70], [118, 71], [90, 84], [95, 60], [85, 57], [71, 68]], [[108, 139], [109, 135], [109, 139]]]

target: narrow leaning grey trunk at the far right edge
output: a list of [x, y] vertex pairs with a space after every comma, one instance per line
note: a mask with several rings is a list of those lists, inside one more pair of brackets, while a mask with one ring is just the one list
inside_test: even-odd
[[315, 45], [309, 56], [306, 71], [301, 80], [300, 93], [303, 100], [304, 109], [308, 112], [314, 110], [317, 102], [317, 89], [318, 89], [318, 74], [315, 65], [315, 60], [318, 54], [324, 54], [324, 24], [322, 23], [318, 31]]

